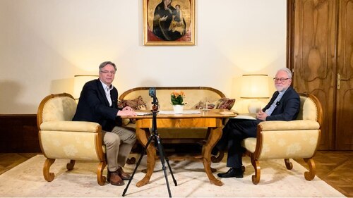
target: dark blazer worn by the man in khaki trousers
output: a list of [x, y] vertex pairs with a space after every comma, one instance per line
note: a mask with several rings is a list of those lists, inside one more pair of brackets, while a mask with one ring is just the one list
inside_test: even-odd
[[99, 79], [86, 82], [80, 93], [73, 121], [89, 121], [102, 125], [102, 130], [112, 131], [116, 125], [118, 113], [118, 90], [114, 87], [110, 91], [112, 106], [105, 96], [102, 82]]

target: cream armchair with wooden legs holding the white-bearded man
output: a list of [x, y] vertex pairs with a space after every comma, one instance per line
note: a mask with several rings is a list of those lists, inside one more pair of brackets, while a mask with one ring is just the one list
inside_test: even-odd
[[293, 165], [289, 159], [303, 158], [309, 165], [309, 172], [305, 172], [304, 177], [313, 180], [316, 175], [313, 155], [320, 142], [322, 116], [320, 101], [312, 94], [300, 94], [297, 120], [259, 123], [256, 138], [249, 137], [242, 142], [255, 169], [253, 184], [260, 181], [259, 160], [265, 159], [285, 159], [287, 169], [291, 170]]

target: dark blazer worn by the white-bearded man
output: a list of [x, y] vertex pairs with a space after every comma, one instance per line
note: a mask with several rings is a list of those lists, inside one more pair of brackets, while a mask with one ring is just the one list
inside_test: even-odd
[[[273, 93], [273, 96], [270, 99], [270, 102], [268, 102], [268, 104], [263, 108], [264, 112], [266, 111], [266, 109], [270, 108], [271, 104], [273, 104], [273, 101], [277, 98], [278, 94], [280, 94], [280, 92], [278, 91]], [[273, 113], [271, 113], [271, 116], [268, 116], [266, 118], [266, 121], [295, 120], [299, 113], [299, 107], [300, 107], [299, 95], [292, 87], [288, 87], [285, 94], [283, 94], [282, 98], [277, 103], [277, 106], [273, 110]]]

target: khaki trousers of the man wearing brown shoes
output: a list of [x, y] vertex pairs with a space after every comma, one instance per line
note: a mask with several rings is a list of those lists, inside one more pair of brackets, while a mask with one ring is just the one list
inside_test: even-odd
[[108, 170], [113, 172], [124, 167], [128, 154], [136, 142], [135, 132], [114, 127], [112, 132], [102, 130], [102, 143], [106, 147]]

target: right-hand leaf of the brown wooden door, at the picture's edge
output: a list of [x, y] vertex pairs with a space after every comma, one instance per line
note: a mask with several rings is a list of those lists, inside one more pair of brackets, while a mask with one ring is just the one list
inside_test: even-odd
[[335, 149], [353, 150], [353, 1], [339, 6]]

